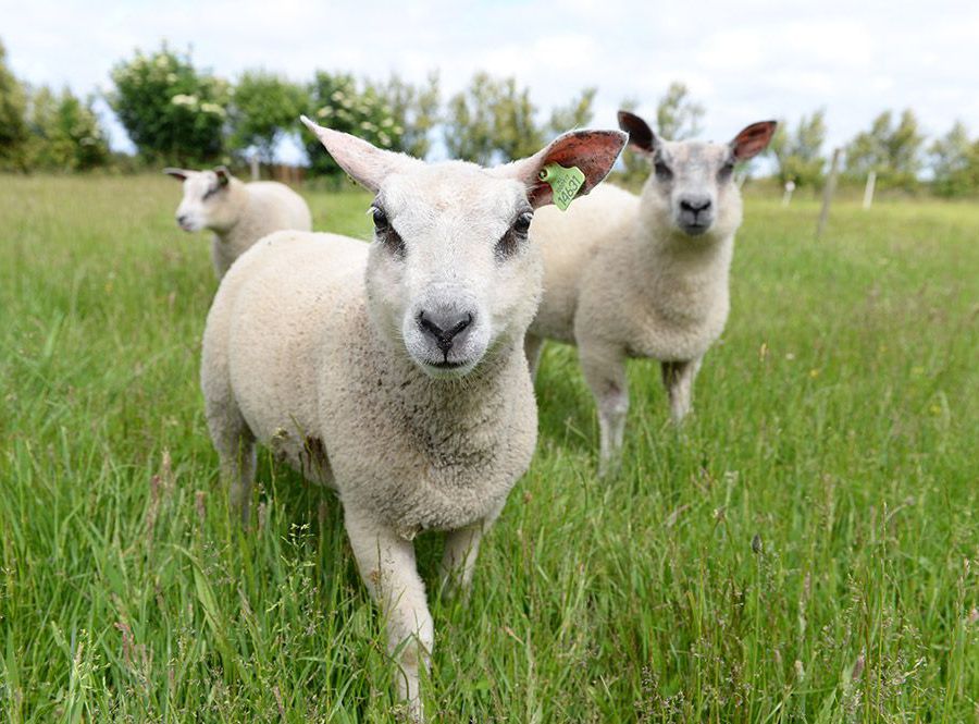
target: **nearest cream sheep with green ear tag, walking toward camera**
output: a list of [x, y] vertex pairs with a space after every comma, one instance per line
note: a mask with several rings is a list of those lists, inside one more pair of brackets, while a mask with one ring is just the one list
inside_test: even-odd
[[575, 165], [587, 193], [627, 136], [572, 132], [483, 169], [427, 164], [302, 122], [376, 194], [373, 243], [286, 231], [238, 259], [203, 334], [206, 416], [246, 525], [257, 441], [338, 492], [386, 621], [397, 694], [421, 720], [434, 633], [412, 539], [446, 531], [444, 590], [467, 589], [536, 443], [523, 336], [543, 269], [528, 229], [554, 193], [538, 174]]

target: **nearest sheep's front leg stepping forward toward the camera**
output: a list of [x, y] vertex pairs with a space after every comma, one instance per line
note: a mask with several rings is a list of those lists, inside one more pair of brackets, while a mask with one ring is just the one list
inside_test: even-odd
[[387, 650], [398, 664], [398, 697], [407, 701], [411, 717], [421, 721], [419, 674], [429, 668], [435, 634], [414, 545], [350, 507], [345, 523], [360, 575], [386, 623]]

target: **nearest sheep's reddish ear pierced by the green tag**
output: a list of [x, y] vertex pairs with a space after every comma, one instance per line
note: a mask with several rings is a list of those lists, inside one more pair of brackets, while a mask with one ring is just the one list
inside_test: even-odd
[[493, 169], [492, 173], [521, 181], [528, 188], [528, 200], [537, 208], [554, 203], [550, 184], [541, 179], [544, 167], [549, 163], [566, 169], [577, 167], [584, 174], [577, 195], [583, 196], [608, 175], [627, 140], [628, 136], [620, 131], [570, 131], [533, 156]]

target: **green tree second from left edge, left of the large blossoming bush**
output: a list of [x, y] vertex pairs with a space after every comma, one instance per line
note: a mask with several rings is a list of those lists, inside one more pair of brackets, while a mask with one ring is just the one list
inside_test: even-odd
[[42, 86], [30, 95], [28, 163], [51, 171], [88, 171], [109, 161], [109, 143], [94, 100], [69, 88], [54, 94]]

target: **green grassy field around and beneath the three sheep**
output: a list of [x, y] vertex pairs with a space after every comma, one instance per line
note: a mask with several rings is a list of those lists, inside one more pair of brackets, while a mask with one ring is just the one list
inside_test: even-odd
[[[263, 452], [228, 523], [178, 196], [0, 177], [0, 711], [392, 721], [334, 495]], [[365, 194], [308, 197], [368, 234]], [[617, 479], [547, 348], [534, 464], [468, 603], [432, 602], [434, 721], [979, 722], [979, 207], [841, 204], [819, 242], [817, 210], [748, 199], [695, 414], [633, 363]]]

